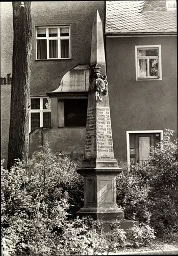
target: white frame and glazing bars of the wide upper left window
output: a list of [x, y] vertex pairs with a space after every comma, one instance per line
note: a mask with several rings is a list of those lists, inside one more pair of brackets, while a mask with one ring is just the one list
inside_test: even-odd
[[[46, 36], [37, 37], [37, 29], [46, 29]], [[58, 35], [60, 35], [61, 28], [68, 28], [69, 29], [69, 36], [50, 36], [49, 37], [49, 29], [50, 28], [57, 28]], [[53, 59], [70, 59], [71, 58], [71, 39], [70, 39], [70, 26], [35, 26], [35, 60], [53, 60]], [[37, 40], [38, 39], [46, 39], [46, 50], [47, 50], [47, 59], [37, 59]], [[69, 39], [69, 57], [68, 58], [61, 58], [61, 40], [62, 39]], [[58, 58], [49, 58], [49, 40], [58, 40]]]

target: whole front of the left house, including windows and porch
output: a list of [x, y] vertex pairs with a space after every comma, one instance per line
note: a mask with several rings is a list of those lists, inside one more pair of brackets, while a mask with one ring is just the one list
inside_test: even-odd
[[[78, 159], [83, 157], [88, 65], [96, 10], [104, 22], [104, 1], [32, 2], [30, 157], [46, 141], [54, 151], [62, 150]], [[1, 3], [3, 159], [8, 156], [12, 51], [12, 3], [4, 2]]]

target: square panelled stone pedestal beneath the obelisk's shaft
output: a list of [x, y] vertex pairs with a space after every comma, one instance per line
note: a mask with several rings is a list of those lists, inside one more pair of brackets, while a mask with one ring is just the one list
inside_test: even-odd
[[84, 207], [78, 215], [103, 221], [124, 219], [123, 210], [116, 204], [116, 175], [121, 169], [96, 167], [77, 172], [84, 177]]

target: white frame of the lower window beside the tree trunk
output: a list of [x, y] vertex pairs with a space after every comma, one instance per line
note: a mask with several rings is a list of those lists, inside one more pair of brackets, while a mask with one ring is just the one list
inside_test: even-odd
[[31, 99], [40, 99], [40, 109], [39, 110], [31, 110], [31, 106], [30, 106], [30, 117], [29, 117], [29, 133], [31, 133], [31, 113], [40, 113], [40, 127], [43, 127], [43, 113], [44, 112], [48, 112], [51, 113], [51, 109], [50, 110], [43, 110], [43, 99], [44, 98], [49, 98], [47, 96], [43, 96], [43, 97], [30, 97]]

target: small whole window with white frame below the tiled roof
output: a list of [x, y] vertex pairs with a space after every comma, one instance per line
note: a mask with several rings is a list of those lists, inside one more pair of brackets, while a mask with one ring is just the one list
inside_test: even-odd
[[136, 80], [162, 79], [161, 45], [136, 46]]

